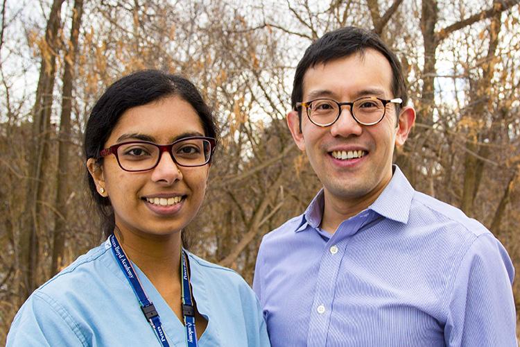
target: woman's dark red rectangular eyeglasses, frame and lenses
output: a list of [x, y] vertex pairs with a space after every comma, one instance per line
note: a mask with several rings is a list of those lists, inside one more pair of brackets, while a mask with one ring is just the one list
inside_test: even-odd
[[181, 167], [202, 167], [211, 161], [215, 150], [212, 137], [194, 136], [177, 139], [171, 144], [147, 141], [129, 141], [103, 149], [101, 156], [113, 154], [119, 167], [125, 171], [148, 171], [157, 167], [163, 152], [168, 152], [175, 164]]

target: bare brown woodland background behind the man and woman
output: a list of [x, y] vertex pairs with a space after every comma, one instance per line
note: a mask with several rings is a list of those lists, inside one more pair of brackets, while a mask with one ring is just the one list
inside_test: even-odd
[[[35, 287], [101, 242], [83, 131], [105, 87], [137, 69], [184, 74], [218, 115], [191, 250], [252, 282], [262, 235], [320, 187], [284, 120], [295, 65], [347, 25], [404, 65], [417, 124], [395, 161], [520, 269], [519, 0], [0, 2], [0, 341]], [[519, 290], [517, 278], [517, 312]]]

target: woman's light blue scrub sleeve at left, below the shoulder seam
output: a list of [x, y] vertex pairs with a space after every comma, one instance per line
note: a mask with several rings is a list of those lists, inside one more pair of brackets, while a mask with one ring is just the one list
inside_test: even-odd
[[87, 345], [64, 308], [38, 292], [21, 306], [6, 341], [6, 347]]

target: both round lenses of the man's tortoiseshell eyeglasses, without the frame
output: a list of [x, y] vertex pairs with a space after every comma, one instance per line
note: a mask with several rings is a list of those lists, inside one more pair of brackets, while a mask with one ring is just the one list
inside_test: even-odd
[[[318, 99], [307, 109], [311, 120], [320, 125], [329, 125], [340, 115], [340, 107], [336, 101]], [[361, 124], [373, 124], [381, 120], [385, 114], [385, 106], [379, 99], [365, 98], [354, 101], [352, 106], [354, 117]]]

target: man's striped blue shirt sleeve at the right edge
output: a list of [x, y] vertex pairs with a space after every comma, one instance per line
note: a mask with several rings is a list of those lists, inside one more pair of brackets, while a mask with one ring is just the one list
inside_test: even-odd
[[513, 278], [501, 243], [489, 232], [477, 237], [454, 281], [444, 327], [447, 346], [518, 346]]

